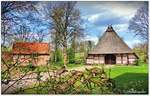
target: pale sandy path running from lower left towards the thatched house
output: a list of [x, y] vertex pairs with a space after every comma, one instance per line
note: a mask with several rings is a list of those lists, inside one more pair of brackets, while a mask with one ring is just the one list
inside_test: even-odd
[[[114, 65], [107, 65], [104, 66], [104, 68], [111, 68]], [[98, 67], [100, 68], [101, 66], [91, 66], [91, 65], [86, 65], [86, 66], [81, 66], [81, 67], [75, 67], [75, 68], [70, 68], [68, 69], [70, 70], [78, 70], [78, 71], [84, 71], [86, 68], [90, 69], [93, 67]], [[66, 73], [67, 74], [67, 73]], [[65, 75], [66, 75], [65, 74]], [[42, 81], [46, 81], [49, 78], [49, 74], [48, 72], [43, 72], [40, 74], [41, 75], [41, 80]], [[53, 72], [50, 72], [50, 75], [53, 76]], [[37, 82], [37, 74], [33, 73], [30, 75], [25, 76], [24, 78], [22, 78], [23, 80], [18, 81], [17, 83], [15, 83], [13, 86], [11, 86], [6, 92], [5, 94], [9, 94], [9, 93], [14, 93], [15, 91], [17, 91], [20, 87], [25, 88], [28, 86], [31, 86], [32, 84]], [[12, 85], [15, 81], [11, 81], [9, 82], [9, 84], [5, 85], [5, 84], [1, 84], [1, 92], [3, 92], [5, 89], [7, 89], [10, 85]]]

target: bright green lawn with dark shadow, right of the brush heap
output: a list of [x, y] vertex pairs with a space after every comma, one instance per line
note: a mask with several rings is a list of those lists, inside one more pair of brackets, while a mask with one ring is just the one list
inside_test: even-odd
[[111, 69], [110, 77], [115, 80], [116, 93], [148, 93], [147, 64], [115, 66]]

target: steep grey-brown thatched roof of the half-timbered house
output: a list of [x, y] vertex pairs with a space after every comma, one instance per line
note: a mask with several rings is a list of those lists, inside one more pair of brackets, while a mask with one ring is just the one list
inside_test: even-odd
[[128, 45], [117, 35], [112, 26], [100, 38], [96, 47], [89, 54], [133, 53]]

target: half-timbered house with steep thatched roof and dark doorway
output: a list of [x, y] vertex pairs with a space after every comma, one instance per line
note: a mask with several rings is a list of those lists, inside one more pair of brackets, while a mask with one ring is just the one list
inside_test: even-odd
[[113, 27], [108, 26], [96, 47], [88, 53], [86, 63], [133, 64], [137, 59], [137, 55], [117, 35]]

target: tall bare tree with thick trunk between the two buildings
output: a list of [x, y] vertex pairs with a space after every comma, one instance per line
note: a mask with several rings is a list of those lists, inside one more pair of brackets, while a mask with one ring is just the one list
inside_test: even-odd
[[72, 38], [77, 25], [79, 25], [80, 13], [75, 9], [76, 2], [61, 2], [54, 6], [50, 12], [52, 26], [55, 29], [58, 42], [63, 48], [64, 66], [67, 67], [68, 41]]

